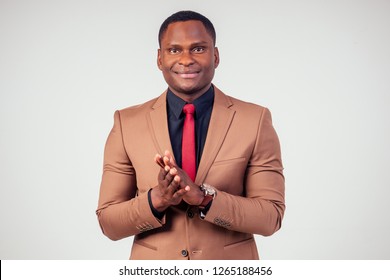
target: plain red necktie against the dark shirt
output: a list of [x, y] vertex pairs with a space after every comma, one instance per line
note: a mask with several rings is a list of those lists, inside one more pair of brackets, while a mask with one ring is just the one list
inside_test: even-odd
[[195, 156], [195, 106], [186, 104], [183, 108], [185, 114], [183, 125], [183, 140], [181, 144], [182, 168], [187, 172], [192, 181], [195, 181], [196, 175], [196, 156]]

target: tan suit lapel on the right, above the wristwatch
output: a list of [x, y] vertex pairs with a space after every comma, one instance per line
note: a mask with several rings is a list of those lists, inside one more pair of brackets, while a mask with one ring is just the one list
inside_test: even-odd
[[230, 99], [215, 86], [214, 107], [211, 113], [206, 143], [199, 163], [195, 182], [202, 184], [213, 164], [233, 120], [235, 111]]

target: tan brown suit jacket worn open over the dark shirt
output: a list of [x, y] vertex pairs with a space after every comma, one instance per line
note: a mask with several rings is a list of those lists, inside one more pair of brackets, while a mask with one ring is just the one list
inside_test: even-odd
[[112, 240], [133, 236], [131, 259], [258, 259], [253, 234], [282, 222], [284, 177], [268, 109], [223, 94], [215, 101], [195, 182], [217, 191], [204, 219], [181, 203], [160, 221], [147, 192], [157, 185], [156, 153], [172, 152], [166, 92], [115, 112], [107, 139], [97, 215]]

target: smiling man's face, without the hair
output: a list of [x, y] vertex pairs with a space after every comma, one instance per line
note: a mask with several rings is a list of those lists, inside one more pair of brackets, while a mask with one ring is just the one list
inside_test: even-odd
[[218, 49], [200, 21], [171, 23], [161, 38], [158, 68], [173, 93], [186, 101], [211, 86], [218, 63]]

